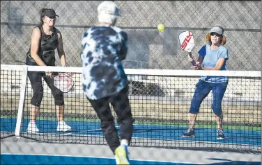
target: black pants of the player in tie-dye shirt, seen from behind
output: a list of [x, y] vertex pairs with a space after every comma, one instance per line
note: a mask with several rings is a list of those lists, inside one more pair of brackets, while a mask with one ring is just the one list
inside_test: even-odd
[[[89, 100], [89, 99], [88, 99]], [[130, 103], [128, 99], [128, 87], [125, 87], [118, 94], [100, 98], [99, 100], [89, 100], [96, 114], [101, 120], [102, 132], [105, 135], [107, 144], [114, 153], [114, 150], [120, 145], [118, 134], [114, 126], [114, 117], [111, 114], [109, 103], [113, 105], [114, 111], [118, 117], [117, 122], [120, 125], [120, 137], [121, 139], [127, 139], [130, 143], [134, 119], [130, 109]]]

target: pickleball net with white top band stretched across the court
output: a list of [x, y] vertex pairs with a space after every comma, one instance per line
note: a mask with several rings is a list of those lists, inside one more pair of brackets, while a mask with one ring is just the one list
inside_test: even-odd
[[[64, 94], [64, 121], [72, 131], [56, 131], [54, 97], [43, 80], [43, 101], [36, 118], [40, 132], [26, 132], [33, 96], [29, 71], [73, 73], [75, 85]], [[100, 120], [82, 90], [81, 73], [81, 67], [1, 64], [1, 139], [16, 136], [48, 143], [107, 144]], [[125, 69], [125, 73], [135, 120], [131, 146], [261, 153], [261, 71]], [[222, 101], [224, 140], [216, 139], [212, 92], [201, 104], [195, 137], [181, 136], [189, 128], [190, 103], [200, 76], [229, 77]]]

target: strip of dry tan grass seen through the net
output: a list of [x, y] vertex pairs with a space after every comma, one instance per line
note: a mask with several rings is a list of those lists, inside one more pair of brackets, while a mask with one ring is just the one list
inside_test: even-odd
[[[26, 97], [24, 111], [30, 110], [30, 97]], [[1, 110], [18, 110], [19, 96], [1, 96]], [[189, 104], [176, 101], [130, 100], [134, 117], [152, 119], [187, 120]], [[261, 106], [223, 105], [224, 121], [261, 123]], [[54, 112], [54, 98], [44, 97], [40, 112]], [[203, 104], [198, 120], [214, 121], [211, 105]], [[95, 114], [86, 98], [65, 98], [65, 113]]]

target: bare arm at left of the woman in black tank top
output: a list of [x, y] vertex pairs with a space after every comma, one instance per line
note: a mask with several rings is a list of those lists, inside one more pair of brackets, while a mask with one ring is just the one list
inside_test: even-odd
[[40, 59], [38, 55], [39, 42], [41, 38], [41, 32], [39, 28], [34, 28], [31, 35], [31, 58], [35, 60], [36, 64], [39, 66], [46, 66], [43, 60]]

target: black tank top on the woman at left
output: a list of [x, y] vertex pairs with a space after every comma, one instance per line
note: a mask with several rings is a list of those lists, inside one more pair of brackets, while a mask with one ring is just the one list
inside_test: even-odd
[[[40, 29], [41, 37], [38, 47], [38, 56], [47, 66], [54, 66], [56, 58], [54, 50], [56, 50], [59, 42], [58, 36], [56, 33], [56, 28], [51, 35], [46, 35], [43, 31], [42, 26], [37, 26]], [[36, 64], [35, 60], [31, 58], [31, 46], [29, 51], [26, 53], [26, 64], [27, 65], [38, 65]]]

